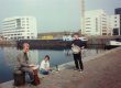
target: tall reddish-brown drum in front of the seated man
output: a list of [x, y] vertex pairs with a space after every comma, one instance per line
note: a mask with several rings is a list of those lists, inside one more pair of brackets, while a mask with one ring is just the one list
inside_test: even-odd
[[38, 67], [37, 66], [34, 66], [32, 67], [33, 69], [33, 73], [34, 73], [34, 81], [33, 81], [33, 85], [37, 86], [41, 84], [41, 80], [38, 78]]

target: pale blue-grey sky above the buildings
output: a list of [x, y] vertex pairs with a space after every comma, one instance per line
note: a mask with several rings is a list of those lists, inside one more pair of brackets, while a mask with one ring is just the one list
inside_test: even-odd
[[[0, 29], [2, 20], [11, 16], [35, 16], [37, 31], [62, 32], [80, 30], [81, 0], [0, 0]], [[121, 0], [85, 0], [86, 10], [103, 9], [113, 14]]]

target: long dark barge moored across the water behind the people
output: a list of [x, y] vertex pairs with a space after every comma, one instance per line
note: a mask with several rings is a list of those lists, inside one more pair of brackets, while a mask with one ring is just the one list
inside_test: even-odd
[[[70, 48], [73, 37], [64, 37], [59, 40], [18, 40], [18, 48], [22, 48], [23, 43], [29, 43], [31, 48]], [[87, 40], [82, 37], [82, 43], [86, 46]]]

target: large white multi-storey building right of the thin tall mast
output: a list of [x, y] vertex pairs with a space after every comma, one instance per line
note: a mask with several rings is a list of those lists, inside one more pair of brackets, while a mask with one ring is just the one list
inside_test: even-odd
[[103, 10], [91, 10], [85, 12], [85, 29], [88, 35], [108, 35], [107, 14]]

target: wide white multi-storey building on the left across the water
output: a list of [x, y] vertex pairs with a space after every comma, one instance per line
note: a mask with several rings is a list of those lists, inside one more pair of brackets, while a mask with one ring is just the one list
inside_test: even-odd
[[33, 16], [7, 18], [2, 25], [2, 35], [7, 40], [37, 37], [36, 19]]

